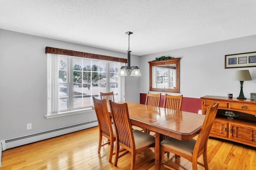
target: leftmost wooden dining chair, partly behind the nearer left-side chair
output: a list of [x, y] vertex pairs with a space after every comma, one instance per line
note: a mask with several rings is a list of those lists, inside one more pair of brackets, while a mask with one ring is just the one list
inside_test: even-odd
[[[114, 141], [116, 141], [116, 132], [115, 132], [114, 124], [111, 123], [110, 115], [108, 113], [107, 101], [106, 99], [96, 99], [95, 97], [92, 97], [92, 99], [94, 103], [96, 116], [98, 119], [99, 133], [100, 133], [98, 153], [100, 153], [100, 149], [102, 146], [106, 144], [110, 144], [110, 153], [109, 153], [108, 162], [112, 162]], [[103, 136], [108, 139], [107, 143], [102, 144]]]

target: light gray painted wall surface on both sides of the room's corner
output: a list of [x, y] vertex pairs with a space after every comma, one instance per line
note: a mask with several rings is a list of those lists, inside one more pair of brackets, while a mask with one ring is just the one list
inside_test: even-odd
[[[0, 29], [0, 140], [96, 120], [95, 113], [81, 113], [46, 119], [47, 57], [45, 47], [70, 49], [112, 57], [124, 53], [47, 39]], [[256, 92], [256, 67], [224, 69], [224, 55], [256, 51], [256, 35], [176, 49], [145, 56], [131, 56], [142, 76], [125, 78], [125, 100], [139, 103], [139, 93], [149, 90], [149, 64], [155, 57], [180, 57], [180, 93], [186, 97], [204, 95], [238, 96], [240, 83], [233, 81], [236, 69], [250, 70], [252, 81], [244, 82], [244, 95]], [[26, 124], [32, 129], [26, 130]]]

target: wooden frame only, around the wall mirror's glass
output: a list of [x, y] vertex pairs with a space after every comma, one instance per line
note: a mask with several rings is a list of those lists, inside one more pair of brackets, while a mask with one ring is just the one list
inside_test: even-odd
[[[149, 90], [158, 92], [180, 92], [180, 58], [164, 60], [164, 61], [149, 61]], [[176, 88], [152, 88], [152, 66], [176, 64]]]

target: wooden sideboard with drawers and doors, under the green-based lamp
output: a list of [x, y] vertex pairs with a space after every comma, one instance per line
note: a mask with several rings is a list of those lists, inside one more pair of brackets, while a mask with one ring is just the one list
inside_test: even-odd
[[[204, 96], [202, 114], [208, 106], [219, 103], [212, 125], [210, 137], [226, 139], [256, 147], [256, 101], [219, 96]], [[236, 117], [227, 119], [226, 111], [232, 111]]]

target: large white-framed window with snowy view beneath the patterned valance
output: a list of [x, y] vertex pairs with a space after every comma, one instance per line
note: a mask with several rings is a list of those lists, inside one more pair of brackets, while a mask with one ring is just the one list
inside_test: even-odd
[[91, 108], [92, 97], [114, 92], [115, 101], [123, 101], [122, 63], [48, 54], [48, 115]]

